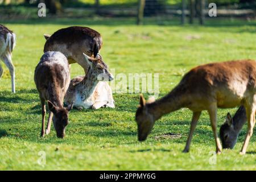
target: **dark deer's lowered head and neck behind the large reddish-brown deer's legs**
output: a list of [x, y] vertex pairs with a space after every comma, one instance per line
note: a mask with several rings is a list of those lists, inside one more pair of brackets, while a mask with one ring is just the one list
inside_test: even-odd
[[223, 148], [233, 148], [235, 146], [238, 135], [246, 121], [247, 117], [244, 106], [239, 107], [233, 118], [230, 113], [227, 114], [225, 123], [220, 127], [220, 138]]

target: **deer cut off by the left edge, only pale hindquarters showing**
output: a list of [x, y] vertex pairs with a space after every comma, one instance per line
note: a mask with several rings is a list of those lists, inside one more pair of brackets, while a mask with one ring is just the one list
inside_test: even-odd
[[[11, 53], [16, 45], [16, 35], [13, 31], [0, 24], [0, 59], [5, 63], [11, 75], [11, 92], [15, 93], [15, 68], [11, 59]], [[0, 64], [0, 78], [3, 68]]]

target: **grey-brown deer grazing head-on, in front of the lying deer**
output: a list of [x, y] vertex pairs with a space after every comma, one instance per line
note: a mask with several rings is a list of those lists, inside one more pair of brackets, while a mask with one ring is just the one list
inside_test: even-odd
[[[34, 80], [42, 105], [41, 137], [49, 134], [51, 121], [55, 127], [57, 137], [64, 138], [65, 128], [68, 125], [68, 111], [73, 104], [63, 107], [63, 98], [70, 82], [70, 73], [67, 57], [60, 52], [46, 52], [35, 68]], [[47, 130], [44, 129], [46, 116], [46, 101], [48, 103], [49, 118]]]

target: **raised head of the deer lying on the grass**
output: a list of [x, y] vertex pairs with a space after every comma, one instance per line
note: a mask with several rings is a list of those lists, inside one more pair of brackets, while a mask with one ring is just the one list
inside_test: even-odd
[[97, 77], [99, 81], [112, 81], [114, 80], [113, 75], [108, 71], [108, 65], [106, 65], [102, 59], [100, 53], [97, 53], [95, 59], [87, 56], [83, 53], [85, 60], [90, 65], [90, 68], [93, 71], [94, 76]]

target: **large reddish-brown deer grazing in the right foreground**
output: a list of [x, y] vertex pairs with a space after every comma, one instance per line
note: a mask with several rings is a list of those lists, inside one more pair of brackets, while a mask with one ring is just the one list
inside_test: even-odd
[[183, 150], [188, 152], [201, 111], [207, 110], [216, 141], [216, 152], [220, 154], [222, 147], [217, 134], [217, 108], [243, 105], [246, 108], [248, 123], [247, 135], [241, 150], [241, 154], [245, 154], [255, 125], [255, 80], [256, 61], [254, 60], [205, 64], [191, 69], [163, 98], [146, 103], [141, 96], [135, 118], [138, 124], [138, 139], [145, 140], [156, 119], [162, 115], [187, 107], [193, 111], [188, 140]]

